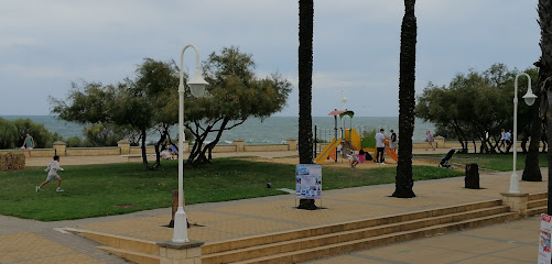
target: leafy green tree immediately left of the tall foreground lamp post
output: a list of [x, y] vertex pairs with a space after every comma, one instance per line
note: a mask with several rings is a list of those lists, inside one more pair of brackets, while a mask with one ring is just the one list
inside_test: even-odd
[[[164, 122], [169, 122], [166, 124], [169, 127], [176, 120], [170, 120], [173, 118], [171, 111], [177, 112], [177, 107], [174, 110], [175, 103], [172, 99], [173, 90], [177, 86], [174, 62], [164, 63], [145, 58], [138, 65], [137, 77], [133, 80], [127, 78], [117, 85], [107, 86], [85, 81], [79, 86], [74, 82], [66, 100], [51, 98], [52, 112], [66, 121], [102, 124], [104, 129], [120, 128], [128, 138], [131, 138], [131, 142], [136, 142], [138, 138], [142, 148], [142, 165], [149, 169], [145, 155], [148, 131]], [[95, 144], [98, 140], [96, 136], [100, 134], [90, 131], [93, 138], [90, 142]]]

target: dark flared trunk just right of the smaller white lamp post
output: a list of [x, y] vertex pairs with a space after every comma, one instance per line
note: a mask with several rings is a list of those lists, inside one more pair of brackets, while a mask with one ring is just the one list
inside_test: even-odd
[[[542, 84], [544, 79], [546, 79], [546, 76], [543, 74], [544, 72], [539, 72], [538, 84]], [[541, 168], [539, 167], [539, 143], [542, 138], [542, 120], [539, 117], [539, 108], [541, 105], [541, 98], [545, 96], [545, 94], [542, 94], [539, 90], [537, 90], [535, 94], [539, 98], [531, 107], [531, 124], [529, 129], [531, 142], [529, 143], [529, 152], [526, 156], [526, 167], [523, 168], [523, 175], [521, 176], [521, 180], [527, 182], [542, 182]], [[524, 144], [522, 143], [521, 145], [523, 146]], [[523, 150], [523, 152], [526, 151]]]

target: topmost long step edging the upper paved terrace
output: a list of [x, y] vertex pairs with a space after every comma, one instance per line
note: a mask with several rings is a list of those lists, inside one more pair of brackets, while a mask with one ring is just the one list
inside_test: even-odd
[[343, 232], [348, 230], [370, 228], [381, 224], [390, 224], [397, 222], [411, 221], [416, 219], [424, 219], [429, 217], [439, 217], [451, 213], [465, 212], [469, 210], [477, 210], [483, 208], [490, 208], [501, 206], [501, 200], [488, 200], [483, 202], [472, 202], [465, 205], [458, 205], [453, 207], [444, 207], [425, 211], [413, 211], [401, 215], [393, 215], [381, 218], [370, 218], [360, 221], [348, 221], [343, 223], [320, 226], [306, 229], [299, 229], [292, 231], [285, 231], [269, 235], [255, 235], [245, 239], [229, 240], [223, 242], [208, 243], [202, 246], [203, 255], [214, 254], [218, 252], [227, 252], [231, 250], [246, 249], [250, 246], [258, 246], [262, 244], [278, 243], [290, 240], [297, 240], [303, 238], [312, 238], [314, 235], [323, 235], [335, 232]]

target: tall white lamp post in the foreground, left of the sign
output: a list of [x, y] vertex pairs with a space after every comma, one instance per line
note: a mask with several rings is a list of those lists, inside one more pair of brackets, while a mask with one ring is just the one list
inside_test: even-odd
[[187, 81], [192, 96], [203, 97], [205, 95], [205, 86], [207, 81], [203, 79], [202, 68], [199, 67], [199, 51], [194, 45], [186, 45], [182, 48], [181, 53], [181, 67], [180, 67], [180, 85], [178, 85], [178, 209], [174, 213], [174, 231], [173, 242], [184, 243], [188, 242], [187, 238], [187, 220], [186, 212], [184, 212], [184, 52], [186, 48], [193, 47], [195, 50], [195, 73], [194, 76]]

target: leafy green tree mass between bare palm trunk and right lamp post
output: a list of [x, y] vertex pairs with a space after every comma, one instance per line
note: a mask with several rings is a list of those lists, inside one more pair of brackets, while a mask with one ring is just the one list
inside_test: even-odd
[[[535, 74], [534, 69], [526, 73]], [[511, 130], [513, 125], [511, 100], [517, 74], [517, 69], [509, 70], [504, 64], [495, 64], [481, 73], [470, 69], [468, 74], [457, 74], [448, 86], [430, 82], [418, 98], [415, 112], [419, 118], [435, 123], [439, 134], [457, 139], [466, 151], [467, 142], [475, 145], [477, 140], [481, 142], [479, 152], [502, 152], [498, 147], [500, 131]], [[518, 98], [526, 90], [527, 84], [520, 84]], [[522, 143], [529, 138], [529, 107], [520, 103], [518, 128]]]

